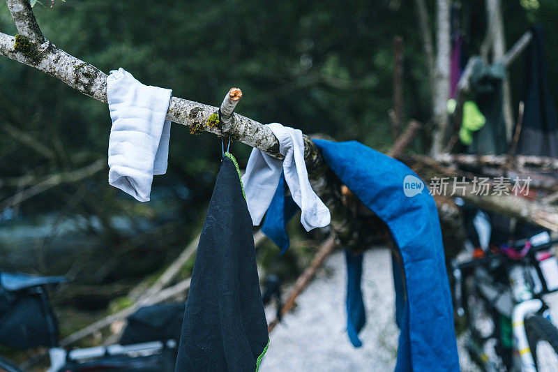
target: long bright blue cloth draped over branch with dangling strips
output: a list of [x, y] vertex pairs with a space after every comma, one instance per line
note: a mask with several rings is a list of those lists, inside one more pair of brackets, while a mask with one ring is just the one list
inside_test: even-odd
[[[420, 179], [389, 156], [356, 141], [315, 143], [342, 183], [389, 226], [401, 253], [403, 267], [397, 265], [394, 270], [401, 329], [395, 371], [459, 371], [453, 305], [434, 199], [425, 186], [421, 193], [406, 196], [405, 177], [416, 177], [415, 182]], [[276, 206], [280, 204], [272, 205]], [[266, 218], [285, 216], [283, 210], [272, 207]], [[280, 228], [285, 230], [285, 225]], [[348, 255], [347, 258], [347, 328], [354, 327], [348, 331], [352, 333], [352, 342], [358, 345], [358, 338], [353, 338], [363, 325], [360, 258]], [[401, 277], [405, 278], [405, 288]], [[401, 307], [402, 304], [405, 306]]]

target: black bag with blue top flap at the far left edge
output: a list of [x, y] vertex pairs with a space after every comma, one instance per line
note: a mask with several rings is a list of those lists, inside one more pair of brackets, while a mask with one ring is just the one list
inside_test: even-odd
[[0, 345], [56, 346], [58, 325], [45, 285], [62, 281], [66, 281], [63, 276], [0, 273]]

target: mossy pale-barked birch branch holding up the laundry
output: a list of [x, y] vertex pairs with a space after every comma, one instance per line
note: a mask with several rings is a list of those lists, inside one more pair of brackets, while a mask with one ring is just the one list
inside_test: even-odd
[[[19, 32], [9, 36], [0, 33], [0, 54], [27, 66], [36, 68], [82, 94], [107, 103], [107, 74], [91, 64], [64, 52], [44, 38], [27, 0], [6, 0]], [[214, 118], [219, 107], [204, 105], [183, 98], [172, 97], [167, 119], [177, 124], [190, 126], [190, 132], [201, 131], [221, 134]], [[227, 131], [233, 140], [248, 144], [275, 158], [282, 159], [279, 142], [271, 130], [248, 117], [233, 113], [234, 126]], [[345, 246], [355, 244], [353, 221], [340, 200], [338, 184], [333, 182], [331, 172], [322, 159], [316, 145], [304, 135], [305, 159], [312, 187], [331, 210], [332, 227]]]

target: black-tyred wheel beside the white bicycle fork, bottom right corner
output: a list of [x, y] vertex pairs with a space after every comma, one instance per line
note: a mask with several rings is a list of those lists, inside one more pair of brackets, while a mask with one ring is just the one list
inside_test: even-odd
[[527, 341], [537, 371], [558, 371], [558, 329], [550, 320], [534, 315], [525, 320]]

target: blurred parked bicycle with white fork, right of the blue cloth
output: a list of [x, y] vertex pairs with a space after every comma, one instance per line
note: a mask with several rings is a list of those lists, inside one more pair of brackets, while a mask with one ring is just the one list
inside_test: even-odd
[[467, 352], [483, 371], [558, 371], [558, 329], [543, 299], [558, 290], [558, 265], [551, 276], [541, 265], [541, 258], [554, 257], [550, 248], [558, 240], [545, 234], [543, 243], [537, 235], [493, 247], [485, 257], [451, 263], [455, 311], [465, 317], [469, 336]]

